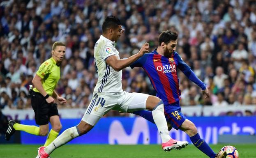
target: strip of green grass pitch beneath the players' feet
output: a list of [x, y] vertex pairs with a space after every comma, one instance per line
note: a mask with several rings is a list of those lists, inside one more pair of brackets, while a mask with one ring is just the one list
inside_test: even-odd
[[[211, 145], [217, 152], [227, 144]], [[256, 158], [256, 144], [229, 144], [240, 158]], [[35, 158], [39, 145], [0, 144], [0, 158]], [[193, 145], [164, 152], [160, 145], [64, 145], [51, 158], [208, 158]]]

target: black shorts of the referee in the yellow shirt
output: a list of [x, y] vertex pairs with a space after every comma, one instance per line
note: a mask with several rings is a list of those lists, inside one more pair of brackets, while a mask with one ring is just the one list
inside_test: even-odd
[[32, 91], [31, 105], [35, 112], [35, 121], [38, 125], [49, 123], [51, 116], [59, 115], [57, 104], [47, 103], [44, 96], [39, 92]]

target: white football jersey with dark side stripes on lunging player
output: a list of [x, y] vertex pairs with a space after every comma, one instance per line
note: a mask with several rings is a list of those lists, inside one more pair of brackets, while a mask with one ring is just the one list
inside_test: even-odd
[[94, 61], [99, 76], [94, 92], [123, 92], [122, 70], [115, 71], [106, 63], [107, 57], [111, 55], [116, 55], [120, 59], [114, 44], [115, 42], [101, 35], [94, 46]]

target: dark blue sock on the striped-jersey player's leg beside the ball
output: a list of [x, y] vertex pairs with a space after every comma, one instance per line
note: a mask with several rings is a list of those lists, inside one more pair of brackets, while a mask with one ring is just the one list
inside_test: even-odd
[[196, 133], [196, 135], [190, 137], [191, 142], [196, 146], [199, 150], [205, 153], [210, 158], [215, 158], [216, 153], [212, 151], [205, 140], [201, 139], [200, 135]]

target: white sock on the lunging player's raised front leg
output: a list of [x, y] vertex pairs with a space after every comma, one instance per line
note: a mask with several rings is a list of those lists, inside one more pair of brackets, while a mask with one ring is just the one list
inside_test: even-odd
[[160, 105], [158, 105], [154, 110], [152, 110], [153, 119], [155, 124], [157, 125], [157, 129], [161, 136], [162, 142], [168, 142], [171, 137], [169, 135], [167, 122], [164, 116], [164, 104], [161, 101]]

